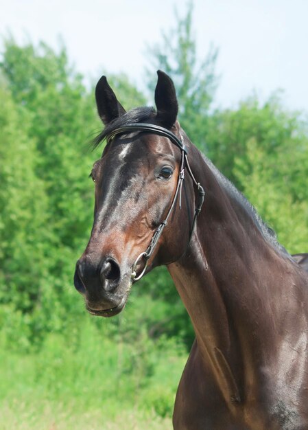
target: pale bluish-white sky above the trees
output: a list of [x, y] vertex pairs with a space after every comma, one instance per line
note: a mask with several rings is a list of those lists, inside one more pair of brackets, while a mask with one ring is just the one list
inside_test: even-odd
[[[193, 34], [202, 60], [219, 49], [215, 103], [236, 107], [257, 91], [283, 89], [289, 109], [308, 112], [308, 0], [194, 0]], [[19, 43], [62, 38], [69, 60], [88, 79], [126, 73], [143, 88], [147, 50], [183, 16], [186, 0], [0, 0], [0, 34]], [[0, 44], [1, 45], [1, 44]], [[2, 45], [1, 45], [2, 51]], [[156, 70], [153, 69], [153, 75]]]

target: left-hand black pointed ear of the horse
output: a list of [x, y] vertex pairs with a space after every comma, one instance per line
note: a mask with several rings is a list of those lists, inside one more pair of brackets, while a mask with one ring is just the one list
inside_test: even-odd
[[102, 76], [97, 82], [95, 99], [99, 117], [105, 125], [126, 113], [126, 110], [117, 101], [117, 97], [108, 84], [106, 76]]

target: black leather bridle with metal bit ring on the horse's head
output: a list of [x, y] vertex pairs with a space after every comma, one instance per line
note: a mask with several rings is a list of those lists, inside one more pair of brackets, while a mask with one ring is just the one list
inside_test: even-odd
[[[189, 161], [187, 158], [187, 146], [185, 146], [185, 144], [183, 142], [182, 135], [180, 135], [180, 139], [178, 139], [178, 137], [174, 133], [169, 131], [167, 128], [164, 128], [161, 126], [156, 126], [154, 124], [137, 122], [134, 124], [126, 124], [124, 126], [119, 126], [118, 128], [115, 128], [115, 130], [111, 131], [106, 136], [107, 142], [110, 143], [112, 141], [112, 139], [117, 135], [123, 135], [124, 133], [132, 133], [134, 131], [141, 131], [141, 132], [145, 131], [147, 133], [153, 133], [155, 135], [168, 137], [168, 139], [174, 145], [176, 145], [176, 146], [178, 146], [178, 148], [180, 148], [181, 159], [180, 159], [180, 169], [178, 171], [178, 183], [176, 185], [176, 192], [174, 194], [174, 199], [172, 200], [172, 203], [169, 207], [169, 210], [168, 210], [168, 213], [167, 213], [165, 220], [163, 220], [161, 222], [161, 224], [158, 225], [157, 229], [154, 231], [154, 234], [152, 236], [152, 239], [150, 241], [149, 246], [147, 247], [147, 249], [145, 251], [143, 251], [143, 252], [141, 252], [141, 254], [139, 254], [139, 256], [135, 260], [134, 264], [132, 264], [132, 274], [131, 274], [132, 282], [138, 281], [145, 274], [145, 271], [147, 269], [147, 264], [150, 260], [150, 257], [152, 256], [152, 253], [154, 252], [154, 249], [157, 245], [159, 238], [163, 234], [163, 229], [166, 227], [167, 222], [169, 220], [169, 216], [171, 215], [171, 212], [173, 211], [174, 206], [176, 205], [176, 199], [178, 198], [178, 195], [180, 196], [180, 207], [181, 207], [182, 183], [185, 179], [185, 168], [187, 168], [189, 175], [190, 175], [191, 179], [193, 180], [193, 183], [198, 188], [198, 201], [196, 204], [195, 214], [193, 215], [193, 223], [191, 225], [191, 230], [189, 232], [189, 240], [187, 243], [187, 247], [188, 247], [189, 242], [191, 240], [191, 236], [193, 234], [193, 229], [196, 225], [197, 216], [200, 214], [200, 211], [201, 211], [201, 208], [202, 208], [202, 205], [204, 202], [204, 195], [205, 195], [204, 189], [202, 188], [200, 183], [196, 181], [195, 177], [193, 176], [193, 172], [191, 171], [191, 167], [189, 166]], [[141, 273], [139, 273], [139, 275], [137, 276], [137, 264], [139, 263], [139, 261], [141, 261], [142, 258], [145, 260], [145, 265], [144, 265]]]

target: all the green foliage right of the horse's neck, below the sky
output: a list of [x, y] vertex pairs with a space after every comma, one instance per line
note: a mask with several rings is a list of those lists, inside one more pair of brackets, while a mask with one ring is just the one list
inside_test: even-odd
[[207, 142], [215, 165], [293, 253], [307, 251], [307, 131], [303, 113], [283, 108], [278, 93], [263, 105], [254, 95], [239, 109], [213, 113]]

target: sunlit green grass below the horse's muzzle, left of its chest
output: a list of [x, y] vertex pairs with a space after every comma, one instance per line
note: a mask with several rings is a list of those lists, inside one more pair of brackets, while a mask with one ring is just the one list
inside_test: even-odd
[[112, 330], [85, 317], [37, 350], [1, 348], [0, 430], [171, 429], [184, 347]]

